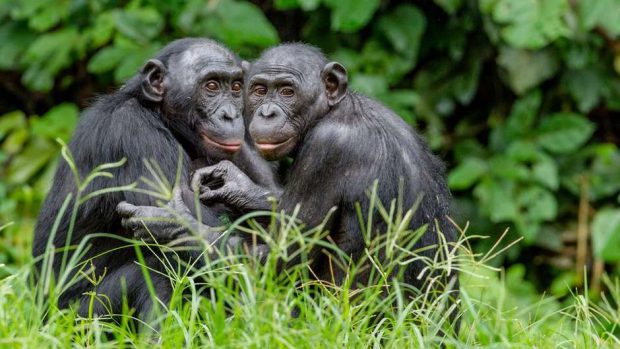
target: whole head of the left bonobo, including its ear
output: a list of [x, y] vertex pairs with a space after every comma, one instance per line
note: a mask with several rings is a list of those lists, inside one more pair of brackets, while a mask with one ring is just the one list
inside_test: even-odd
[[182, 143], [224, 159], [243, 142], [243, 71], [239, 59], [208, 39], [181, 39], [141, 71], [144, 99], [160, 107]]

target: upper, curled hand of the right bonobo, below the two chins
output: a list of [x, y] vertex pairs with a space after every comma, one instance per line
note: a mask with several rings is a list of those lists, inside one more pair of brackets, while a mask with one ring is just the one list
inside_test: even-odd
[[[210, 183], [223, 185], [211, 189]], [[270, 190], [256, 185], [243, 171], [228, 160], [196, 170], [192, 189], [200, 192], [200, 200], [210, 204], [223, 202], [241, 211], [270, 210]]]

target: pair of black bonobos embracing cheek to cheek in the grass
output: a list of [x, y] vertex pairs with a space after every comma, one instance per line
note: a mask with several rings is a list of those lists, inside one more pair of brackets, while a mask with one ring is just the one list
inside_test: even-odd
[[[95, 291], [107, 298], [106, 304], [95, 302], [95, 314], [118, 313], [124, 301], [140, 316], [148, 314], [153, 304], [135, 249], [118, 237], [153, 234], [159, 241], [187, 234], [186, 225], [170, 221], [146, 224], [147, 231], [143, 222], [170, 211], [222, 251], [244, 243], [239, 235], [221, 239], [221, 233], [211, 229], [222, 225], [222, 214], [235, 218], [269, 211], [271, 197], [278, 212], [292, 213], [300, 205], [298, 219], [312, 228], [335, 208], [325, 225], [329, 241], [356, 261], [367, 248], [356, 207], [363, 215], [375, 215], [372, 238], [387, 226], [378, 213], [368, 212], [368, 190], [375, 181], [376, 198], [384, 205], [397, 199], [405, 210], [415, 208], [411, 233], [427, 226], [412, 250], [435, 258], [442, 239], [456, 239], [448, 218], [451, 197], [443, 165], [400, 117], [350, 91], [347, 82], [340, 63], [305, 44], [268, 49], [251, 64], [208, 39], [181, 39], [163, 48], [120, 90], [84, 111], [69, 145], [81, 179], [99, 165], [126, 159], [107, 170], [112, 176], [94, 178], [82, 188], [82, 198], [134, 182], [138, 190], [100, 192], [73, 212], [76, 180], [62, 161], [41, 209], [33, 254], [41, 257], [58, 249], [49, 267], [56, 277], [64, 273], [71, 281], [59, 296], [59, 306], [75, 302], [78, 313], [87, 315], [88, 293]], [[292, 165], [280, 185], [269, 161], [286, 157]], [[147, 193], [153, 180], [145, 178], [155, 166], [168, 183], [175, 183], [180, 161], [180, 183], [168, 207], [157, 207], [157, 198]], [[218, 185], [209, 184], [214, 182]], [[199, 210], [195, 195], [202, 204]], [[63, 205], [68, 208], [57, 218]], [[85, 239], [88, 248], [77, 258], [80, 267], [67, 273], [63, 268], [74, 257], [70, 246]], [[263, 245], [252, 251], [269, 253]], [[157, 270], [158, 256], [144, 258]], [[346, 270], [334, 269], [329, 258], [319, 248], [310, 254], [313, 275], [341, 283]], [[421, 287], [430, 277], [422, 274], [425, 267], [420, 260], [406, 264], [403, 281]], [[102, 279], [93, 286], [80, 276], [80, 268]], [[356, 281], [363, 284], [366, 277], [362, 273]], [[170, 280], [160, 273], [150, 278], [158, 298], [167, 302]], [[454, 298], [456, 278], [452, 272], [444, 280]]]

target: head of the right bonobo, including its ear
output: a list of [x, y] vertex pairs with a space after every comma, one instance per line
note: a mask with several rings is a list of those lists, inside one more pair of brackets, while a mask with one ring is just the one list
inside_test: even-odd
[[347, 93], [347, 71], [316, 48], [284, 44], [252, 64], [246, 87], [249, 131], [261, 154], [290, 154], [315, 121]]

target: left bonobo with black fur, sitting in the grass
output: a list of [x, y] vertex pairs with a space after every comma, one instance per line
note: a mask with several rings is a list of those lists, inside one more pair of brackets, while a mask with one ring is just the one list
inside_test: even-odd
[[[145, 160], [154, 162], [168, 183], [175, 183], [181, 157], [181, 187], [188, 188], [191, 162], [197, 159], [203, 165], [223, 159], [233, 161], [258, 185], [273, 186], [271, 167], [247, 141], [242, 115], [243, 75], [238, 58], [222, 45], [207, 39], [181, 39], [164, 47], [123, 88], [88, 108], [69, 144], [80, 178], [84, 179], [101, 164], [122, 158], [126, 158], [126, 163], [109, 170], [112, 174], [109, 178], [95, 178], [81, 193], [82, 197], [133, 182], [138, 183], [138, 190], [106, 192], [87, 200], [79, 206], [72, 229], [72, 210], [67, 210], [54, 233], [54, 222], [63, 201], [70, 193], [74, 200], [76, 197], [76, 181], [63, 161], [38, 217], [33, 255], [41, 256], [50, 248], [76, 245], [93, 233], [133, 237], [134, 232], [121, 226], [122, 217], [116, 208], [122, 201], [127, 202], [124, 212], [138, 209], [132, 205], [156, 205], [157, 199], [144, 193], [153, 190], [149, 183], [157, 183], [150, 178]], [[194, 207], [193, 194], [176, 190], [171, 203], [177, 210]], [[69, 207], [72, 206], [73, 202]], [[220, 211], [208, 207], [201, 211], [204, 224], [220, 225]], [[119, 312], [124, 296], [121, 286], [125, 284], [129, 286], [126, 290], [129, 305], [141, 316], [148, 315], [152, 302], [141, 268], [135, 263], [134, 247], [114, 237], [91, 238], [90, 248], [79, 261], [88, 261], [83, 263], [87, 264], [85, 269], [94, 267], [93, 273], [103, 279], [94, 288], [86, 278], [78, 278], [77, 283], [60, 295], [59, 306], [79, 301], [78, 313], [86, 315], [89, 296], [84, 294], [94, 290], [109, 300], [109, 304], [96, 302], [95, 313]], [[216, 233], [207, 236], [209, 241], [218, 238]], [[235, 247], [230, 245], [239, 239], [218, 241], [228, 248]], [[62, 253], [56, 252], [53, 258], [56, 277], [63, 267], [62, 261], [67, 259], [61, 258]], [[71, 255], [69, 252], [68, 256]], [[145, 254], [145, 260], [149, 267], [158, 269], [157, 256]], [[78, 273], [72, 271], [72, 275]], [[158, 273], [151, 273], [150, 278], [157, 296], [166, 302], [171, 294], [170, 281]], [[102, 298], [105, 297], [98, 297]]]

